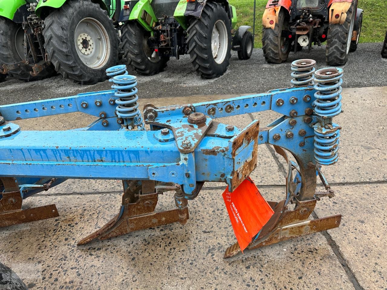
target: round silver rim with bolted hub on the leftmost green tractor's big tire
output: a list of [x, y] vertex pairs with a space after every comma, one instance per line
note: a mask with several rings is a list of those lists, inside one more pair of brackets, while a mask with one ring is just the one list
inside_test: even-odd
[[80, 60], [90, 68], [103, 67], [109, 59], [110, 40], [101, 22], [94, 18], [79, 21], [74, 42]]

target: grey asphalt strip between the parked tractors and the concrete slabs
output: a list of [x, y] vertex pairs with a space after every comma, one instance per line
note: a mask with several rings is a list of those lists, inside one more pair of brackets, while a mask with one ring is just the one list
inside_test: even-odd
[[[343, 87], [377, 87], [387, 85], [387, 59], [380, 55], [382, 43], [361, 43], [351, 53], [344, 69]], [[310, 53], [290, 53], [288, 60], [281, 64], [268, 64], [262, 49], [254, 49], [250, 60], [239, 60], [232, 53], [227, 72], [219, 78], [203, 79], [192, 71], [189, 57], [172, 59], [164, 72], [154, 76], [138, 75], [140, 98], [189, 97], [211, 94], [250, 94], [270, 89], [288, 87], [290, 84], [290, 63], [301, 58], [316, 61], [316, 68], [325, 64], [325, 46], [315, 46]], [[129, 73], [137, 73], [129, 67]], [[108, 81], [95, 85], [75, 84], [57, 75], [36, 82], [23, 82], [9, 78], [0, 83], [0, 104], [28, 102], [54, 97], [66, 97], [81, 92], [110, 89]], [[188, 100], [188, 99], [187, 99]], [[191, 101], [188, 101], [191, 102]]]

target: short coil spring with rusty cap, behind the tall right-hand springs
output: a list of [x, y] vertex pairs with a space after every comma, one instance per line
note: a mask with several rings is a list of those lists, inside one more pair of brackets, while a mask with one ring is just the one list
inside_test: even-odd
[[312, 85], [313, 73], [315, 72], [315, 60], [303, 59], [295, 60], [291, 63], [291, 77], [290, 81], [293, 87], [301, 87], [305, 85]]

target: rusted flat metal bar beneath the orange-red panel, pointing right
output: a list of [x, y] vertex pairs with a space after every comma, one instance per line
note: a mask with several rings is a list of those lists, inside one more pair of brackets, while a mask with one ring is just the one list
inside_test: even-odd
[[277, 228], [276, 231], [267, 239], [259, 244], [249, 247], [248, 249], [257, 249], [259, 247], [269, 246], [271, 244], [293, 239], [295, 237], [301, 237], [303, 235], [309, 235], [323, 230], [334, 229], [340, 225], [340, 222], [341, 215], [332, 215], [330, 217], [286, 225], [284, 227]]

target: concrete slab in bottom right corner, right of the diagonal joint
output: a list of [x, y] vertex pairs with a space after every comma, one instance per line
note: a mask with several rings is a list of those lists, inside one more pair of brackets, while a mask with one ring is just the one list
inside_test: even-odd
[[319, 218], [341, 213], [329, 234], [363, 289], [387, 289], [387, 184], [334, 186], [336, 196], [317, 203]]

